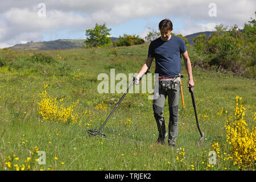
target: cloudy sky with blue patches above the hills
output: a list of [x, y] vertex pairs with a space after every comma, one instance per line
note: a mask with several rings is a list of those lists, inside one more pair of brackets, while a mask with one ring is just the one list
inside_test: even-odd
[[27, 42], [84, 39], [95, 24], [144, 38], [168, 18], [175, 34], [213, 31], [219, 24], [243, 28], [255, 18], [255, 0], [0, 0], [0, 48]]

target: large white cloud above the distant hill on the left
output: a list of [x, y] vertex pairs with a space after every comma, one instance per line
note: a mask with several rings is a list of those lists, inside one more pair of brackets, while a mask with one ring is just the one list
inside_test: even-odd
[[37, 11], [16, 8], [2, 14], [0, 23], [2, 26], [0, 28], [1, 45], [12, 44], [12, 46], [31, 40], [43, 40], [45, 32], [57, 34], [58, 31], [69, 29], [83, 30], [84, 26], [92, 24], [91, 19], [72, 12], [52, 10], [48, 11], [46, 17], [40, 18]]

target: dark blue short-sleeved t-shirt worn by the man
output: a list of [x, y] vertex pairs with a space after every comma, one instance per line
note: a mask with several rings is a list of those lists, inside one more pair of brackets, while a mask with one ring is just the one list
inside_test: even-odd
[[161, 77], [175, 77], [181, 74], [180, 54], [187, 51], [185, 42], [178, 36], [164, 42], [161, 38], [155, 39], [148, 48], [148, 57], [155, 57], [155, 73]]

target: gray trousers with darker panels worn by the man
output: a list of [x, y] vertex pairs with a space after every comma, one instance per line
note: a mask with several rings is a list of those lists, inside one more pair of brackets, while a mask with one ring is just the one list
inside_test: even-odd
[[[154, 93], [157, 94], [157, 93]], [[179, 110], [180, 86], [175, 84], [174, 89], [163, 90], [159, 88], [159, 95], [154, 97], [153, 110], [156, 125], [158, 126], [159, 137], [164, 138], [166, 134], [166, 124], [163, 117], [163, 107], [168, 96], [170, 119], [168, 125], [168, 144], [175, 144], [178, 134], [178, 110]]]

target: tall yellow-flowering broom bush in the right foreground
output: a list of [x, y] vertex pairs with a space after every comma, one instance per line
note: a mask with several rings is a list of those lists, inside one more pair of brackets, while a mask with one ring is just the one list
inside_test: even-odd
[[[239, 169], [255, 166], [256, 159], [256, 127], [250, 131], [245, 121], [245, 105], [242, 97], [236, 97], [234, 117], [227, 121], [226, 142], [232, 154], [233, 164]], [[256, 119], [254, 118], [256, 121]]]

